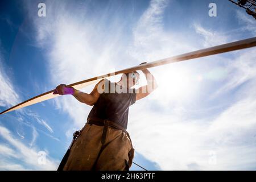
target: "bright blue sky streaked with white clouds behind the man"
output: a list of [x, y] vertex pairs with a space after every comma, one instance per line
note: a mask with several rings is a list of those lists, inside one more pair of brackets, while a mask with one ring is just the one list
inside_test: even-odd
[[[38, 16], [39, 2], [46, 17]], [[208, 15], [211, 2], [217, 17]], [[256, 35], [255, 20], [229, 1], [0, 5], [1, 110], [62, 83]], [[255, 170], [254, 60], [250, 48], [150, 69], [159, 88], [130, 107], [134, 162], [156, 170]], [[0, 169], [56, 169], [90, 109], [61, 96], [1, 115]]]

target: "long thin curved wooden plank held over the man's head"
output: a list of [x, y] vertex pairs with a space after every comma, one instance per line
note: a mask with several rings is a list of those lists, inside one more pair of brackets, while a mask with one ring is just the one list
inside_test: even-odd
[[[139, 70], [139, 69], [152, 68], [152, 67], [157, 67], [157, 66], [164, 65], [164, 64], [175, 63], [175, 62], [178, 62], [178, 61], [191, 60], [191, 59], [195, 59], [195, 58], [199, 58], [199, 57], [216, 55], [218, 53], [236, 51], [236, 50], [239, 50], [239, 49], [245, 49], [245, 48], [250, 48], [250, 47], [255, 47], [255, 46], [256, 46], [256, 37], [250, 38], [250, 39], [244, 39], [244, 40], [240, 40], [240, 41], [237, 41], [237, 42], [222, 44], [220, 46], [214, 46], [214, 47], [210, 47], [210, 48], [200, 49], [198, 51], [184, 53], [182, 55], [168, 57], [166, 59], [162, 59], [162, 60], [158, 60], [158, 61], [152, 61], [151, 63], [137, 65], [135, 67], [122, 69], [121, 71], [112, 72], [112, 73], [108, 73], [106, 75], [101, 75], [101, 76], [98, 76], [98, 77], [89, 78], [89, 79], [86, 79], [86, 80], [75, 82], [73, 84], [69, 84], [67, 86], [73, 86], [76, 89], [81, 89], [81, 88], [84, 88], [85, 86], [88, 86], [90, 84], [93, 84], [93, 83], [97, 82], [98, 80], [100, 80], [102, 78], [110, 77], [110, 76], [113, 76], [113, 75], [118, 75], [118, 74], [121, 74], [121, 73], [129, 73], [129, 72], [133, 72], [133, 71], [136, 71], [136, 70]], [[46, 93], [40, 94], [39, 96], [30, 98], [29, 100], [24, 101], [24, 102], [22, 102], [18, 105], [10, 107], [9, 109], [7, 109], [5, 111], [2, 111], [2, 113], [0, 113], [0, 115], [4, 114], [4, 113], [7, 113], [9, 111], [20, 109], [22, 107], [26, 107], [26, 106], [29, 106], [29, 105], [32, 105], [32, 104], [36, 104], [38, 102], [49, 100], [51, 98], [59, 97], [58, 94], [52, 94], [54, 92], [54, 90], [55, 89], [50, 90]]]

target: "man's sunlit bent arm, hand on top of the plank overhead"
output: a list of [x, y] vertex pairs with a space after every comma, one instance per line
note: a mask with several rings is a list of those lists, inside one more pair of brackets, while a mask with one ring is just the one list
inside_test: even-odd
[[156, 88], [158, 88], [158, 85], [156, 84], [155, 77], [150, 73], [150, 71], [148, 71], [148, 69], [142, 69], [142, 72], [146, 76], [147, 85], [141, 86], [140, 88], [138, 88], [136, 90], [136, 100], [137, 101], [148, 96]]

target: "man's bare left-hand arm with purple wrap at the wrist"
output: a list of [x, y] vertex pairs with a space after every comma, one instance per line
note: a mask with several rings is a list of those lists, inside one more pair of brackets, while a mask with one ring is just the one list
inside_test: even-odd
[[77, 90], [73, 87], [67, 87], [65, 84], [60, 84], [59, 86], [57, 86], [53, 94], [72, 94], [72, 96], [74, 96], [78, 101], [85, 103], [89, 106], [93, 106], [100, 97], [102, 90], [104, 90], [104, 82], [102, 81], [104, 80], [101, 80], [94, 86], [90, 94], [81, 92], [80, 90]]

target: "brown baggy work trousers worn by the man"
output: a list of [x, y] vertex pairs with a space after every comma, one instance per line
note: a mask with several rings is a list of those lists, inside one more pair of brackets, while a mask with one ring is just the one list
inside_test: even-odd
[[71, 147], [63, 170], [129, 170], [134, 156], [129, 134], [108, 127], [102, 145], [103, 129], [104, 126], [85, 125]]

